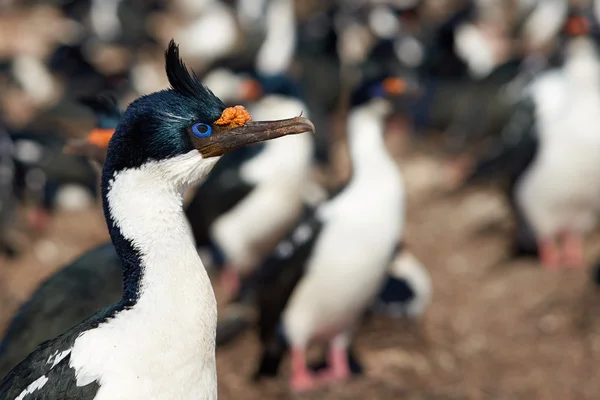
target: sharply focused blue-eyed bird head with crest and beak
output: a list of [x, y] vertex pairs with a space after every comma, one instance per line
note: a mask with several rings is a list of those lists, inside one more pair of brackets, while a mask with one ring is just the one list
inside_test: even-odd
[[[177, 158], [172, 164], [177, 179], [197, 181], [229, 151], [314, 131], [306, 118], [253, 122], [244, 107], [227, 107], [194, 73], [188, 72], [173, 41], [165, 59], [171, 87], [129, 105], [109, 143], [104, 163], [106, 179], [110, 179], [109, 171], [111, 175]], [[198, 154], [206, 162], [194, 161]]]

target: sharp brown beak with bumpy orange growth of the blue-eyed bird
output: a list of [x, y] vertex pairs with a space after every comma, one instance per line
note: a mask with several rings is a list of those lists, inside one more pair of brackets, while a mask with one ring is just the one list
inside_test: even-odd
[[314, 131], [313, 123], [304, 117], [254, 122], [244, 107], [235, 106], [226, 109], [212, 125], [210, 136], [197, 138], [190, 135], [190, 138], [194, 147], [207, 158], [218, 157], [249, 144]]

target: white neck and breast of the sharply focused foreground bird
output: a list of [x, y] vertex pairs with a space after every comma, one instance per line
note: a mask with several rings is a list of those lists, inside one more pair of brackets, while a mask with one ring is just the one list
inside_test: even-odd
[[[194, 150], [149, 162], [114, 174], [104, 193], [112, 223], [139, 256], [125, 276], [139, 279], [139, 291], [134, 304], [73, 346], [77, 385], [101, 382], [98, 400], [217, 398], [217, 304], [181, 196], [216, 160]], [[121, 238], [115, 246], [124, 263], [135, 255]]]

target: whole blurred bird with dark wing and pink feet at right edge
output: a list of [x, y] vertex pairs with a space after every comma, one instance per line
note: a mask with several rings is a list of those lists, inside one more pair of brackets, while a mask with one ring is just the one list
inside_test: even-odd
[[[600, 145], [594, 134], [600, 122], [596, 21], [593, 10], [571, 9], [561, 32], [562, 65], [525, 88], [501, 141], [469, 178], [508, 177], [518, 225], [513, 250], [539, 254], [550, 268], [581, 265], [581, 235], [594, 226], [600, 200], [591, 155]], [[555, 185], [559, 178], [563, 183]]]

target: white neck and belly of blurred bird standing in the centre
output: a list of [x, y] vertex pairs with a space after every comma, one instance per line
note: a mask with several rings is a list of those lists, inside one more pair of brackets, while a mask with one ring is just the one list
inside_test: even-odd
[[404, 226], [403, 181], [383, 138], [387, 105], [371, 102], [349, 117], [353, 177], [318, 210], [323, 231], [283, 315], [293, 348], [313, 338], [346, 347], [386, 276]]

